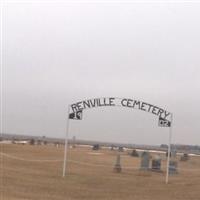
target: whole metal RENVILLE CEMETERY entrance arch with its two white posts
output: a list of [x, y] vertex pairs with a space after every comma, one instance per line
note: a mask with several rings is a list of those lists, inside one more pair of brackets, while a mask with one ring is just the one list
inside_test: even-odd
[[127, 99], [127, 98], [116, 98], [116, 97], [103, 97], [79, 101], [77, 103], [68, 106], [68, 120], [67, 120], [67, 132], [65, 138], [65, 150], [64, 150], [64, 163], [63, 163], [63, 177], [66, 172], [66, 157], [67, 157], [67, 144], [68, 144], [68, 130], [69, 130], [69, 119], [72, 120], [82, 120], [83, 110], [89, 108], [97, 108], [103, 106], [121, 106], [128, 107], [132, 109], [139, 109], [146, 111], [158, 116], [158, 126], [169, 127], [169, 143], [168, 143], [168, 157], [167, 157], [167, 173], [166, 173], [166, 183], [168, 183], [169, 178], [169, 161], [170, 161], [170, 151], [171, 151], [171, 137], [172, 137], [172, 113], [162, 109], [158, 106], [152, 104]]

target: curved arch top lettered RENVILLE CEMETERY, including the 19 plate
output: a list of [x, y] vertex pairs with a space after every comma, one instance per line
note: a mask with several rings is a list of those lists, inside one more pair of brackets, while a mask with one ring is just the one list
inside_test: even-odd
[[139, 109], [157, 115], [159, 119], [171, 122], [171, 117], [170, 117], [171, 113], [166, 111], [165, 109], [162, 109], [158, 106], [154, 106], [152, 104], [143, 101], [129, 99], [129, 98], [118, 98], [118, 97], [94, 98], [71, 104], [69, 118], [74, 119], [77, 118], [78, 116], [80, 117], [80, 114], [82, 114], [82, 111], [85, 109], [102, 107], [102, 106], [122, 106], [132, 109], [133, 108]]

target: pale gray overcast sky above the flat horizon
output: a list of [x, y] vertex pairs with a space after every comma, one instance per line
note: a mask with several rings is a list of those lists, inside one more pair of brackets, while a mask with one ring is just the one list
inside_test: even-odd
[[[68, 104], [116, 96], [173, 112], [173, 143], [200, 145], [200, 2], [99, 2], [4, 8], [3, 131], [64, 137]], [[157, 124], [137, 110], [90, 109], [70, 121], [70, 137], [167, 143]]]

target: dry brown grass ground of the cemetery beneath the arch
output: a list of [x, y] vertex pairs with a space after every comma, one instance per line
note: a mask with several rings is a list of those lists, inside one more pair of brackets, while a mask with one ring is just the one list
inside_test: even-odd
[[[0, 144], [1, 200], [199, 200], [200, 157], [179, 161], [177, 175], [141, 172], [140, 158], [121, 153], [122, 172], [114, 173], [116, 151], [68, 149], [62, 177], [63, 147]], [[162, 156], [165, 159], [165, 155]], [[43, 160], [43, 161], [41, 161]], [[162, 161], [165, 172], [166, 160]]]

